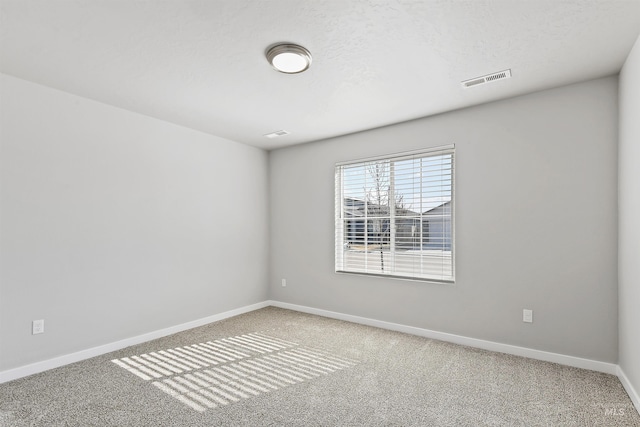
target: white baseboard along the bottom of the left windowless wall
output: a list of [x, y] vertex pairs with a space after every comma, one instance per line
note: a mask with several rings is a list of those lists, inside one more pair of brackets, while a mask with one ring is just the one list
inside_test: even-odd
[[49, 369], [57, 368], [60, 366], [68, 365], [69, 363], [79, 362], [81, 360], [89, 359], [91, 357], [100, 356], [102, 354], [110, 353], [112, 351], [120, 350], [125, 347], [129, 347], [143, 342], [151, 341], [157, 338], [166, 337], [178, 332], [186, 331], [187, 329], [197, 328], [208, 323], [217, 322], [227, 319], [229, 317], [238, 316], [240, 314], [248, 313], [250, 311], [258, 310], [269, 306], [268, 301], [259, 302], [257, 304], [247, 305], [244, 307], [236, 308], [234, 310], [225, 311], [224, 313], [214, 314], [212, 316], [204, 317], [202, 319], [193, 320], [191, 322], [182, 323], [180, 325], [171, 326], [169, 328], [160, 329], [157, 331], [149, 332], [146, 334], [138, 335], [131, 338], [125, 338], [120, 341], [112, 342], [105, 345], [81, 350], [75, 353], [65, 354], [63, 356], [54, 357], [53, 359], [43, 360], [42, 362], [32, 363], [30, 365], [20, 366], [18, 368], [9, 369], [0, 372], [0, 384], [7, 381], [16, 380], [18, 378], [26, 377], [29, 375], [37, 374], [47, 371]]

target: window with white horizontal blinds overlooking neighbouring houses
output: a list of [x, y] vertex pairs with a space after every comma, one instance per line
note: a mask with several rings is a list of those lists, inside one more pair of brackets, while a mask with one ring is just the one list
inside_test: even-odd
[[454, 146], [336, 165], [337, 272], [454, 281]]

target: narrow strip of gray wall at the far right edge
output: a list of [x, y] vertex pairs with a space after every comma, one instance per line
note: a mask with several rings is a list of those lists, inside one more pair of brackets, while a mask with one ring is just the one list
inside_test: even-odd
[[620, 73], [620, 367], [640, 393], [640, 38]]

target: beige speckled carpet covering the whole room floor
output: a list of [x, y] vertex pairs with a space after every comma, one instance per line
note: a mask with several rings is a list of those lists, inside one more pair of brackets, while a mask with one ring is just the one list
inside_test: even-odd
[[1, 426], [640, 426], [619, 380], [273, 307], [0, 385]]

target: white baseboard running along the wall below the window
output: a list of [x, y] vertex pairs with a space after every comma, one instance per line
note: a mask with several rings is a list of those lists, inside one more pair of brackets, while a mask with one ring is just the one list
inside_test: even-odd
[[476, 338], [469, 338], [462, 335], [437, 332], [429, 329], [416, 328], [414, 326], [400, 325], [398, 323], [384, 322], [381, 320], [369, 319], [366, 317], [352, 316], [350, 314], [337, 313], [334, 311], [322, 310], [319, 308], [306, 307], [303, 305], [289, 304], [280, 301], [270, 301], [274, 307], [286, 308], [303, 313], [317, 314], [318, 316], [330, 317], [332, 319], [346, 320], [348, 322], [359, 323], [367, 326], [388, 329], [391, 331], [404, 332], [418, 335], [425, 338], [433, 338], [454, 344], [466, 345], [469, 347], [481, 348], [484, 350], [496, 351], [500, 353], [513, 354], [515, 356], [528, 357], [530, 359], [543, 360], [545, 362], [559, 363], [561, 365], [573, 366], [576, 368], [589, 369], [592, 371], [604, 372], [616, 375], [618, 365], [613, 363], [599, 362], [596, 360], [583, 359], [580, 357], [566, 356], [564, 354], [550, 353], [547, 351], [533, 350], [526, 347], [518, 347], [510, 344], [501, 344], [493, 341], [485, 341]]

